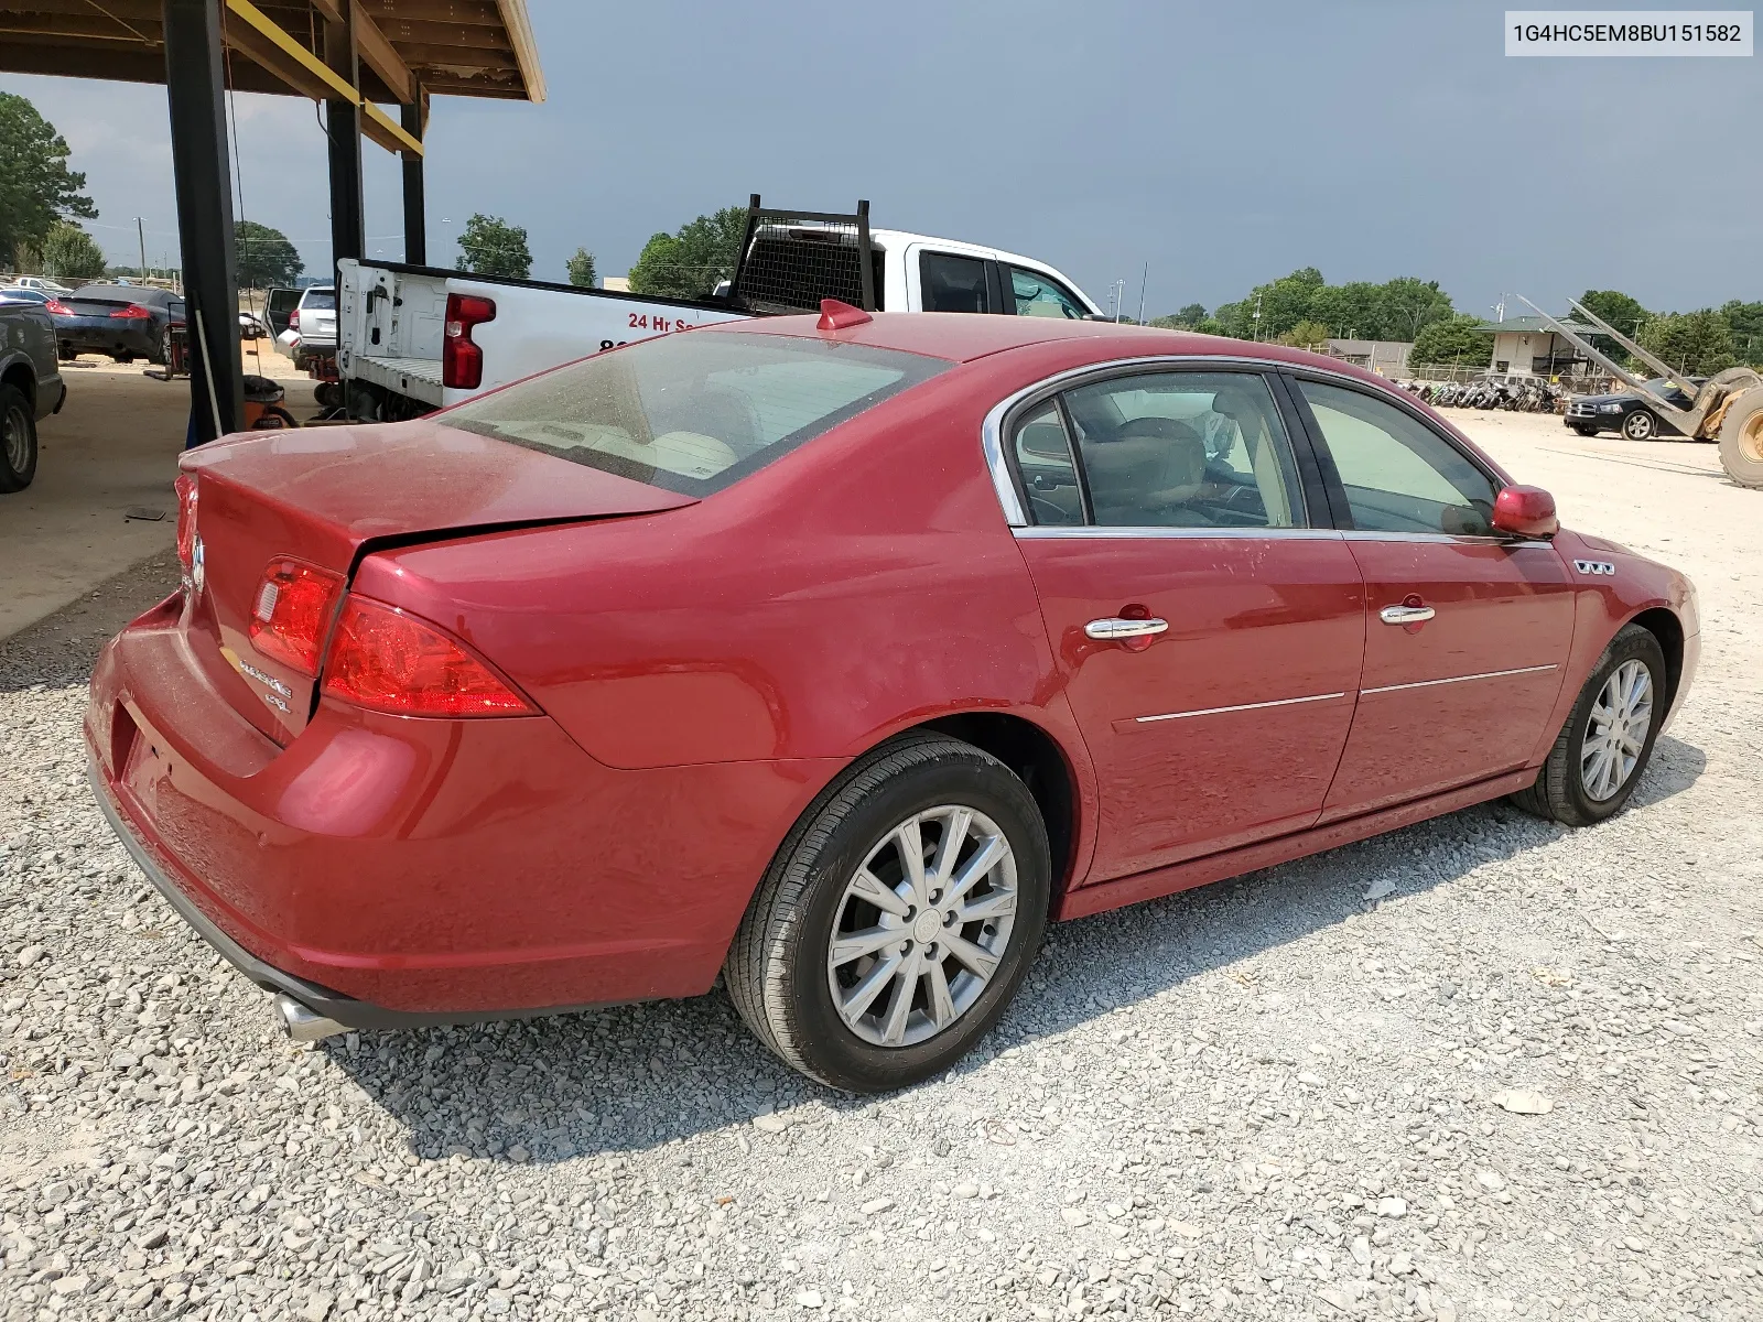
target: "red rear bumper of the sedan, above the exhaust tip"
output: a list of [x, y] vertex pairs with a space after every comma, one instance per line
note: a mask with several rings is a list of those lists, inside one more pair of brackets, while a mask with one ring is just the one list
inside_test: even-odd
[[99, 802], [210, 945], [346, 1026], [709, 991], [822, 783], [800, 763], [622, 772], [543, 716], [330, 702], [279, 747], [196, 665], [199, 645], [178, 594], [99, 656]]

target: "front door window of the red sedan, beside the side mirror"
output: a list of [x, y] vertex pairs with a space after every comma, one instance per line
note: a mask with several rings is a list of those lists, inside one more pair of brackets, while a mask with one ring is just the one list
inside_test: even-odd
[[1356, 390], [1298, 388], [1335, 457], [1356, 529], [1493, 536], [1493, 481], [1432, 428]]

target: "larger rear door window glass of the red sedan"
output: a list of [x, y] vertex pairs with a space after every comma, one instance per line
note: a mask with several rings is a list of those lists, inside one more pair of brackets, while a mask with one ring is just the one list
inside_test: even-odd
[[1292, 446], [1250, 372], [1146, 372], [1067, 397], [1104, 527], [1303, 527]]

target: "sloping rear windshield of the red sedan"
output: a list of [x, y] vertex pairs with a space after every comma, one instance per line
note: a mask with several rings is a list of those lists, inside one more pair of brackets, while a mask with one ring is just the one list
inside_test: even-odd
[[686, 331], [559, 367], [435, 421], [709, 495], [950, 367], [860, 344]]

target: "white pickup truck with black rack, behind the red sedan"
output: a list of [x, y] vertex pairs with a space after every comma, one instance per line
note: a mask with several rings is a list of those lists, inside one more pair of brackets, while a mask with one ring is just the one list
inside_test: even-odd
[[823, 215], [767, 212], [755, 197], [735, 277], [703, 300], [347, 259], [337, 273], [337, 368], [349, 416], [367, 421], [414, 418], [651, 335], [815, 310], [822, 298], [890, 312], [1102, 316], [1045, 263], [871, 231], [862, 203], [855, 215]]

